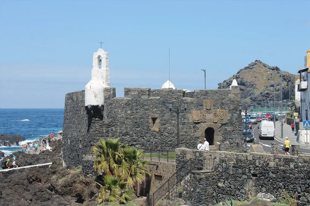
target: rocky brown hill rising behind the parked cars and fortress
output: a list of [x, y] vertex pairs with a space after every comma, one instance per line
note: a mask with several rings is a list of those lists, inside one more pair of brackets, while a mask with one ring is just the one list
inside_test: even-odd
[[[241, 100], [251, 102], [255, 107], [273, 107], [273, 80], [264, 78], [276, 78], [276, 107], [280, 106], [280, 75], [267, 74], [267, 72], [279, 72], [279, 67], [271, 67], [268, 64], [255, 60], [247, 67], [240, 69], [237, 74], [233, 75], [229, 79], [224, 80], [223, 83], [219, 83], [219, 89], [229, 88], [233, 79], [237, 80], [237, 83], [241, 90]], [[289, 102], [289, 84], [291, 97], [295, 96], [295, 81], [298, 79], [298, 75], [291, 74], [286, 71], [282, 71], [282, 84], [283, 84], [283, 106], [288, 106], [285, 103]], [[277, 83], [278, 82], [278, 83]]]

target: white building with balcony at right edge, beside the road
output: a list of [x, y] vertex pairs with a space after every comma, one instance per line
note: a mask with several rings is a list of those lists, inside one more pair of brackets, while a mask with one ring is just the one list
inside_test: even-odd
[[[299, 83], [297, 85], [297, 92], [300, 92], [300, 122], [310, 120], [310, 49], [307, 51], [307, 55], [305, 55], [305, 68], [298, 71], [299, 73]], [[297, 100], [297, 99], [296, 99]], [[300, 143], [306, 143], [305, 136], [306, 131], [303, 130], [302, 124], [300, 124], [298, 132], [298, 137], [300, 139]], [[310, 134], [308, 132], [308, 143], [310, 139]]]

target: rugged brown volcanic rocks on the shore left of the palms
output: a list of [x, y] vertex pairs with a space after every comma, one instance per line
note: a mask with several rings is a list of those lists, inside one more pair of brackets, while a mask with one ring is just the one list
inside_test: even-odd
[[[51, 151], [44, 150], [39, 154], [26, 154], [14, 152], [10, 157], [17, 157], [18, 166], [35, 165], [53, 162], [51, 167], [29, 168], [27, 170], [14, 170], [11, 175], [4, 178], [0, 173], [0, 206], [73, 206], [97, 205], [96, 183], [91, 177], [84, 178], [80, 167], [63, 167], [61, 159], [61, 144], [51, 142]], [[5, 167], [7, 157], [1, 162]]]

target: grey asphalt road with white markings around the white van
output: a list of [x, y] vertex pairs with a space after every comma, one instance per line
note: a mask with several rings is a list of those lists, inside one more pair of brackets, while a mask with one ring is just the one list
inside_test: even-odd
[[[283, 147], [283, 144], [284, 144], [284, 141], [285, 139], [281, 139], [279, 137], [275, 137], [274, 140], [265, 140], [265, 139], [259, 139], [259, 127], [260, 125], [260, 122], [258, 124], [252, 124], [252, 134], [254, 135], [254, 141], [259, 141], [259, 143], [263, 146], [263, 149], [265, 152], [271, 152], [271, 143], [278, 143], [278, 147], [279, 147], [279, 152], [283, 152], [282, 151], [282, 147]], [[276, 130], [280, 130], [280, 124], [279, 124], [279, 121], [278, 123], [276, 123]], [[277, 133], [277, 132], [276, 132]], [[284, 137], [286, 135], [284, 134]], [[250, 148], [250, 145], [253, 144], [253, 143], [247, 143], [247, 148]], [[305, 147], [300, 147], [300, 152], [303, 153], [303, 154], [310, 154], [310, 148], [305, 148]], [[283, 152], [284, 154], [284, 152]]]

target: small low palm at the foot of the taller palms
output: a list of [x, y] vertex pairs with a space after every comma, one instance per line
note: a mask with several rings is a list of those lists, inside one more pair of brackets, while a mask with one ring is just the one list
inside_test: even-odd
[[[99, 183], [98, 183], [99, 184]], [[100, 194], [97, 201], [109, 200], [111, 202], [118, 201], [119, 203], [126, 203], [127, 200], [132, 199], [130, 195], [134, 195], [135, 191], [127, 188], [127, 182], [123, 182], [122, 178], [113, 177], [111, 175], [104, 176], [105, 186], [100, 185]], [[106, 194], [109, 191], [109, 194]]]

